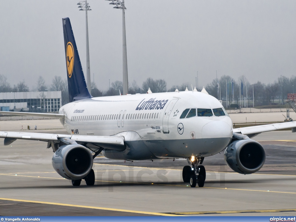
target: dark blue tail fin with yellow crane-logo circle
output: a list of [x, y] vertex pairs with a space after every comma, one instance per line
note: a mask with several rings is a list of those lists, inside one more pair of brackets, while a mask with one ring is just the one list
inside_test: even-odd
[[63, 18], [69, 101], [91, 98], [86, 87], [78, 50], [69, 18]]

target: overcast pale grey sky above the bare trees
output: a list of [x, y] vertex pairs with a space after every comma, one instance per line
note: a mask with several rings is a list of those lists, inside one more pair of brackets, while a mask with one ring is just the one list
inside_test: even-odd
[[[78, 1], [6, 1], [0, 14], [0, 74], [31, 88], [39, 75], [66, 78], [62, 18], [69, 17], [86, 74], [85, 12]], [[91, 81], [122, 81], [122, 13], [89, 0]], [[296, 74], [296, 1], [126, 0], [129, 81], [165, 79], [167, 88], [245, 75], [254, 83]]]

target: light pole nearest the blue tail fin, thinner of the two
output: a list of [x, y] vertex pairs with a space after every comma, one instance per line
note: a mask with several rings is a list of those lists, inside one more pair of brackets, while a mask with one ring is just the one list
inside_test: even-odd
[[79, 1], [77, 3], [79, 11], [85, 11], [85, 23], [86, 23], [86, 87], [91, 93], [91, 70], [89, 65], [89, 25], [87, 22], [87, 11], [90, 11], [90, 6], [87, 1]]

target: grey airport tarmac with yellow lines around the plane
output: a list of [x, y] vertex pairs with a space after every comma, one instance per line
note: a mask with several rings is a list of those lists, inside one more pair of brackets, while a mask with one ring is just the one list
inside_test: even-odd
[[[35, 124], [40, 129], [31, 132], [67, 133], [59, 120], [30, 121], [31, 129]], [[19, 131], [19, 125], [17, 120], [0, 122], [1, 131]], [[82, 181], [73, 187], [52, 168], [53, 152], [46, 142], [16, 140], [4, 146], [0, 139], [0, 215], [295, 216], [296, 134], [266, 132], [252, 139], [266, 150], [260, 171], [235, 173], [221, 152], [205, 158], [202, 188], [183, 182], [185, 159], [125, 162], [102, 156], [94, 161], [95, 185]]]

